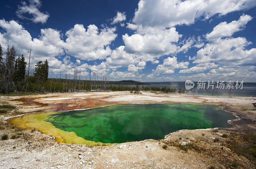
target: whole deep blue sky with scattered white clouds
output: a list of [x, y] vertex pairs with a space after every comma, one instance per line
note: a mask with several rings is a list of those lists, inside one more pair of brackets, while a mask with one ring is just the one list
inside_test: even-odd
[[256, 82], [255, 0], [2, 0], [0, 44], [49, 77]]

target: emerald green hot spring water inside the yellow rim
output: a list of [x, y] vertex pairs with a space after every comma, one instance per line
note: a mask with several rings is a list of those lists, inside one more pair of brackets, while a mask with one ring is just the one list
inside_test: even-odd
[[52, 114], [46, 121], [86, 140], [124, 143], [163, 139], [180, 129], [230, 128], [227, 121], [233, 119], [231, 113], [214, 105], [165, 103], [74, 110]]

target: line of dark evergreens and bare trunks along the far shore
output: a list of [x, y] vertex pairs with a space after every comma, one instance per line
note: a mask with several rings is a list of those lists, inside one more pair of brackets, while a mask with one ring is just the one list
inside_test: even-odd
[[[108, 75], [105, 73], [100, 77], [92, 72], [90, 69], [89, 79], [83, 79], [81, 76], [81, 69], [77, 67], [74, 69], [73, 79], [70, 78], [68, 71], [58, 78], [48, 78], [49, 65], [47, 59], [39, 61], [35, 65], [33, 72], [30, 70], [30, 55], [29, 62], [25, 62], [23, 55], [17, 56], [16, 50], [12, 46], [6, 48], [4, 53], [0, 44], [0, 92], [10, 94], [10, 92], [86, 92], [86, 91], [162, 91], [162, 92], [176, 92], [175, 88], [170, 87], [148, 87], [138, 85], [144, 84], [138, 82], [136, 86], [112, 85], [113, 81], [108, 80]], [[31, 73], [30, 73], [31, 72]], [[97, 80], [96, 80], [97, 78]], [[122, 81], [117, 83], [124, 83]], [[130, 82], [129, 83], [134, 83]], [[136, 83], [136, 82], [135, 82]], [[179, 93], [185, 93], [184, 89], [179, 89]]]

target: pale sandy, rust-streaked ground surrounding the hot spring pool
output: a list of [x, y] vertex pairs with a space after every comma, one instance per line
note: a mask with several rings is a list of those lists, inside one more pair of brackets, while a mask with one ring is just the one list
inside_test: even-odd
[[[244, 133], [256, 133], [256, 109], [253, 98], [206, 97], [142, 92], [60, 93], [30, 96], [1, 96], [1, 103], [17, 109], [1, 116], [0, 134], [18, 134], [16, 139], [0, 141], [0, 168], [255, 168], [256, 160], [238, 154], [232, 143], [245, 149], [249, 141]], [[85, 109], [113, 104], [189, 102], [221, 105], [237, 119], [235, 128], [180, 130], [163, 140], [144, 140], [110, 146], [62, 144], [37, 130], [20, 130], [7, 120], [15, 115]], [[228, 137], [222, 137], [227, 134]], [[215, 142], [214, 139], [219, 141]], [[186, 149], [183, 145], [194, 145]], [[166, 147], [163, 148], [163, 145]], [[238, 144], [237, 144], [238, 145]], [[199, 147], [199, 148], [198, 148]], [[228, 148], [229, 147], [229, 148]], [[237, 147], [237, 146], [236, 146]], [[230, 150], [231, 149], [231, 150]], [[240, 149], [240, 146], [238, 147]]]

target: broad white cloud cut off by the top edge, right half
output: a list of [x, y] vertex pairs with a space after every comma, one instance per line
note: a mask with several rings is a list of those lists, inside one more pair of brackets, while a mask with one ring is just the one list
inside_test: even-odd
[[256, 6], [255, 0], [140, 0], [133, 23], [149, 27], [190, 25], [196, 19], [226, 15]]

